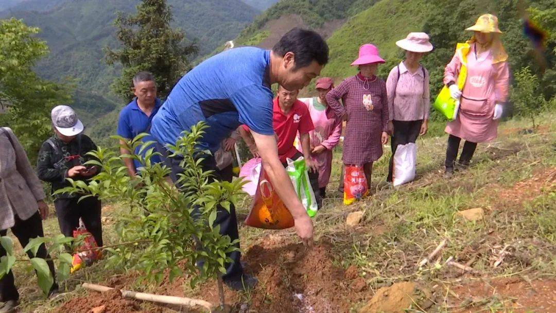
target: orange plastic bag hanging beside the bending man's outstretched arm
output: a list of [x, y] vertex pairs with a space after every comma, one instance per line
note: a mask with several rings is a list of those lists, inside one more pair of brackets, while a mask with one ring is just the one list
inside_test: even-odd
[[259, 186], [245, 225], [264, 229], [294, 227], [294, 217], [274, 191], [266, 172], [261, 168]]

